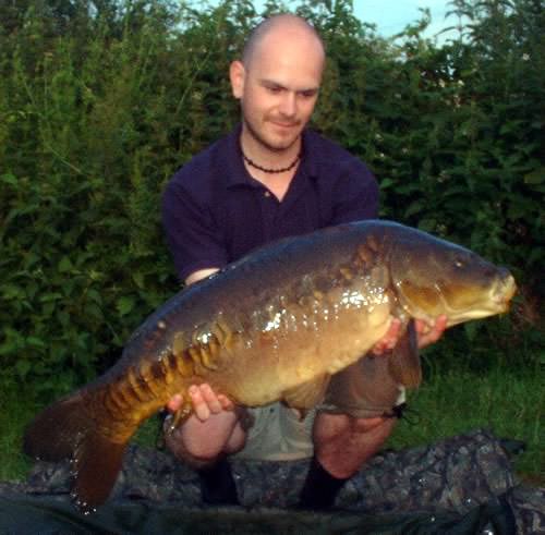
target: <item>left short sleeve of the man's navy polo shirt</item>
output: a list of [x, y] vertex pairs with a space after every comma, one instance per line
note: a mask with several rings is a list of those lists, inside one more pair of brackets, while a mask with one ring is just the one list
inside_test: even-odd
[[162, 226], [181, 281], [198, 269], [227, 264], [223, 233], [206, 199], [177, 178], [162, 194]]

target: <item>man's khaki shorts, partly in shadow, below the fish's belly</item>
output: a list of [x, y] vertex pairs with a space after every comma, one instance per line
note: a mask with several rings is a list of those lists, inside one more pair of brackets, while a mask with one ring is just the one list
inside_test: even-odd
[[312, 428], [317, 411], [375, 417], [389, 413], [405, 400], [404, 388], [393, 382], [387, 357], [366, 356], [336, 374], [324, 403], [304, 418], [280, 402], [249, 409], [253, 424], [240, 459], [293, 461], [313, 455]]

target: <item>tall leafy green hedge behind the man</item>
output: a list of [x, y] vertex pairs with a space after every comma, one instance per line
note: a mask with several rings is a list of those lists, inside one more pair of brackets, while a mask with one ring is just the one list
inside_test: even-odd
[[[393, 44], [348, 0], [301, 2], [329, 57], [314, 126], [372, 167], [383, 216], [514, 271], [523, 296], [510, 319], [470, 324], [443, 351], [538, 362], [543, 2], [457, 0], [452, 10], [463, 26], [438, 47], [422, 37], [425, 17]], [[46, 392], [90, 378], [177, 290], [160, 192], [238, 121], [228, 66], [262, 14], [243, 0], [0, 7], [4, 378]]]

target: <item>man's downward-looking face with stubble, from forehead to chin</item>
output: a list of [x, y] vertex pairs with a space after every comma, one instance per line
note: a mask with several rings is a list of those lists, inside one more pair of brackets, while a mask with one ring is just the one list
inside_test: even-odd
[[324, 56], [313, 36], [278, 29], [264, 36], [250, 64], [231, 66], [243, 136], [282, 151], [300, 139], [318, 97]]

